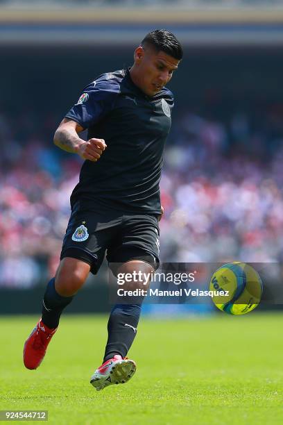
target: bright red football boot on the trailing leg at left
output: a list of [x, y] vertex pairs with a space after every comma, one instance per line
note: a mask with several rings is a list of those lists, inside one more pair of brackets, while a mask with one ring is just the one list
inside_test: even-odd
[[27, 369], [37, 369], [42, 363], [47, 346], [56, 331], [57, 328], [49, 328], [40, 319], [24, 344], [24, 365]]

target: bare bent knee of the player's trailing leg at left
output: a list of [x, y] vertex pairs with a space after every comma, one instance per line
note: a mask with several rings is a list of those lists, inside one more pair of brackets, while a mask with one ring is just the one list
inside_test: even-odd
[[55, 289], [62, 297], [71, 297], [83, 286], [89, 265], [75, 258], [63, 258], [55, 276]]

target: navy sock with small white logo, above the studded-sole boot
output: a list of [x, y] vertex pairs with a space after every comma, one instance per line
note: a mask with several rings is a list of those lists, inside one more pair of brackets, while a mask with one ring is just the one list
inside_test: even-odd
[[108, 320], [108, 341], [103, 363], [115, 354], [126, 357], [135, 335], [141, 314], [139, 304], [116, 304]]

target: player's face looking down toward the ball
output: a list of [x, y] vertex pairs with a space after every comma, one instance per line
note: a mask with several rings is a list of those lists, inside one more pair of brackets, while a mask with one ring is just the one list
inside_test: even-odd
[[135, 51], [135, 66], [139, 88], [148, 96], [154, 96], [169, 83], [180, 60], [167, 55], [164, 51], [155, 51], [152, 47], [138, 47]]

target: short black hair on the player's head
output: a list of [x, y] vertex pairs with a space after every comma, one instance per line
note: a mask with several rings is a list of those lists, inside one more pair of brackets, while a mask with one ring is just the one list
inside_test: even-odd
[[170, 31], [164, 29], [151, 31], [142, 40], [141, 46], [144, 47], [146, 44], [151, 44], [157, 51], [162, 50], [172, 58], [182, 59], [182, 46]]

